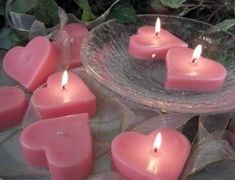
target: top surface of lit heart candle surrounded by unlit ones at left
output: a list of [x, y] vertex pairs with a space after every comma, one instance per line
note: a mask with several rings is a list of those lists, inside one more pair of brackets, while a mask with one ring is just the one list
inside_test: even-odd
[[63, 73], [55, 73], [47, 79], [47, 86], [37, 89], [33, 100], [41, 107], [73, 104], [74, 100], [87, 101], [95, 96], [76, 74], [68, 72], [68, 84], [61, 85]]

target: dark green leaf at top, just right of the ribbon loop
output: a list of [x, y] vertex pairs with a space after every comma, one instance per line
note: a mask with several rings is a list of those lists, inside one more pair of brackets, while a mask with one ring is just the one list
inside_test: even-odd
[[44, 22], [46, 27], [59, 23], [58, 6], [54, 0], [39, 0], [35, 9], [37, 20]]

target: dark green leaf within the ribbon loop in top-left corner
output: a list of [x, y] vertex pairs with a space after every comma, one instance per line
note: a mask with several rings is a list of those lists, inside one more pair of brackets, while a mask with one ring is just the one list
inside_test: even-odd
[[37, 4], [38, 0], [17, 0], [11, 5], [11, 11], [17, 13], [27, 13]]

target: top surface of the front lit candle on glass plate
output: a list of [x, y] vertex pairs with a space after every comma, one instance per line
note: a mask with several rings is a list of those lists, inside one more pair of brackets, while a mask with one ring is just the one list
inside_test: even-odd
[[167, 64], [170, 75], [182, 78], [205, 78], [211, 80], [224, 79], [226, 69], [217, 61], [200, 56], [193, 62], [193, 49], [173, 48], [168, 51]]

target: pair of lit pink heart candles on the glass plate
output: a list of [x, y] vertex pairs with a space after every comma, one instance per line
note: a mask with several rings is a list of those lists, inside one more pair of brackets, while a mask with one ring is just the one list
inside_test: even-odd
[[165, 60], [167, 90], [218, 91], [227, 76], [222, 64], [201, 56], [201, 45], [188, 48], [186, 42], [161, 28], [159, 18], [155, 27], [140, 27], [130, 37], [128, 52], [142, 60]]

